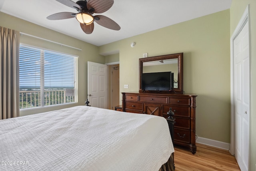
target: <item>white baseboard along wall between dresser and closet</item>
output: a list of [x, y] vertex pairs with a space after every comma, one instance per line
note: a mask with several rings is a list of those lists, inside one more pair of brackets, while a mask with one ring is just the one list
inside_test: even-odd
[[213, 139], [208, 139], [208, 138], [203, 138], [203, 137], [198, 137], [198, 139], [196, 140], [196, 143], [209, 145], [209, 146], [217, 147], [220, 149], [226, 149], [226, 150], [230, 149], [230, 143], [224, 143], [221, 141], [216, 141]]

